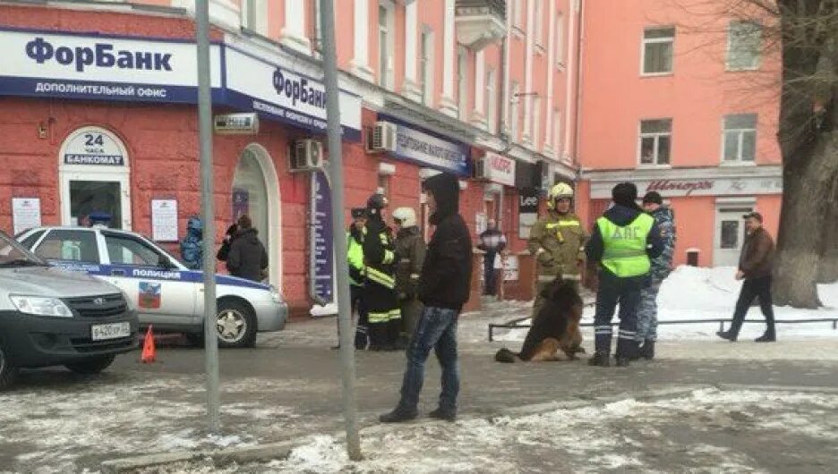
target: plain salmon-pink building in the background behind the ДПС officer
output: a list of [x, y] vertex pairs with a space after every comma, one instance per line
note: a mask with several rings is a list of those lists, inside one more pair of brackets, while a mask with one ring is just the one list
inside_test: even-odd
[[617, 182], [659, 191], [678, 264], [697, 252], [698, 265], [736, 265], [746, 211], [774, 235], [779, 223], [778, 58], [759, 23], [723, 4], [584, 3], [580, 201], [593, 225]]

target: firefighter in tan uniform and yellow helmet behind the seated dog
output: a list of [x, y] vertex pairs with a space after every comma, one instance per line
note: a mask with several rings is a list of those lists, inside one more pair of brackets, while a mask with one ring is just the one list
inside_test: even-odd
[[575, 281], [578, 292], [587, 235], [579, 217], [571, 212], [572, 204], [573, 188], [564, 182], [554, 185], [547, 192], [547, 216], [538, 219], [530, 231], [527, 248], [535, 255], [537, 281], [533, 317], [544, 304], [541, 293], [556, 276]]

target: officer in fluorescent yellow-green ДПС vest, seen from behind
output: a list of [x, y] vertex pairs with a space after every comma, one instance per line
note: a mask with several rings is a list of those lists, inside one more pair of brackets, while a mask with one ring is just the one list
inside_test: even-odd
[[637, 309], [640, 291], [648, 284], [650, 258], [663, 251], [661, 232], [637, 206], [637, 187], [621, 182], [611, 190], [614, 205], [596, 220], [587, 257], [600, 263], [594, 317], [595, 353], [592, 366], [608, 367], [611, 354], [611, 318], [620, 304], [617, 366], [627, 367], [637, 351]]

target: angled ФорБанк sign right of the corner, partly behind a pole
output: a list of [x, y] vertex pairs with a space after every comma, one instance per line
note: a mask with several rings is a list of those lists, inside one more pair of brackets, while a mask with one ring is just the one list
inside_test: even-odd
[[[279, 58], [277, 58], [279, 59]], [[295, 71], [295, 64], [268, 62], [225, 47], [224, 101], [236, 108], [317, 133], [326, 132], [326, 87]], [[341, 90], [340, 123], [346, 140], [361, 140], [361, 97]]]

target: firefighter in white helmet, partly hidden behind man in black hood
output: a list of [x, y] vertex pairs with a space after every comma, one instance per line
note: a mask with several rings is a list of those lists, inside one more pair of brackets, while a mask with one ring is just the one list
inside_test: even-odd
[[410, 336], [414, 334], [422, 301], [419, 300], [419, 275], [424, 263], [425, 242], [422, 231], [416, 224], [416, 211], [411, 207], [398, 207], [393, 211], [396, 224], [396, 292], [401, 308], [402, 327], [396, 347], [406, 349]]

